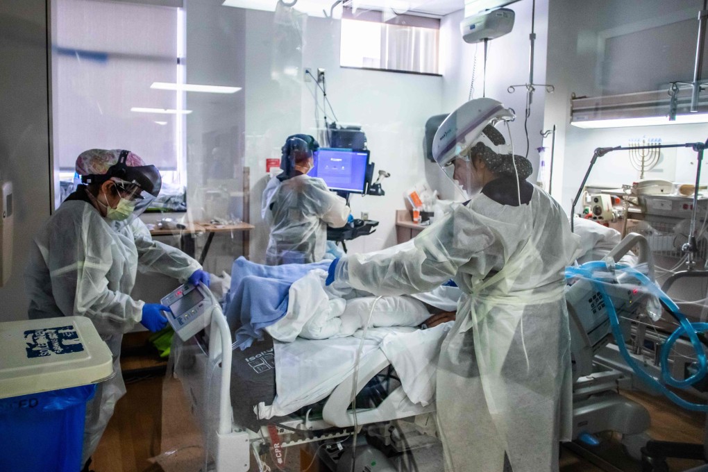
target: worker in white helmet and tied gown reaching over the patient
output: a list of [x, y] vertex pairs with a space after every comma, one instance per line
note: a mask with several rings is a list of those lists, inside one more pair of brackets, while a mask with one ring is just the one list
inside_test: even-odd
[[450, 278], [462, 289], [437, 374], [446, 471], [496, 472], [508, 464], [514, 472], [556, 471], [559, 440], [570, 434], [564, 268], [579, 241], [561, 207], [525, 180], [530, 162], [510, 154], [491, 125], [511, 118], [489, 98], [452, 113], [435, 141], [450, 129], [476, 139], [464, 148], [462, 139], [453, 142], [435, 158], [469, 201], [408, 250], [347, 255], [330, 268], [328, 282], [377, 295], [427, 292]]

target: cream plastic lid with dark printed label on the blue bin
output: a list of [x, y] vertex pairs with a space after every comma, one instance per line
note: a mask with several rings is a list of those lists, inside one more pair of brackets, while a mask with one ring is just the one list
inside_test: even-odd
[[94, 384], [113, 376], [113, 357], [89, 318], [0, 323], [0, 398]]

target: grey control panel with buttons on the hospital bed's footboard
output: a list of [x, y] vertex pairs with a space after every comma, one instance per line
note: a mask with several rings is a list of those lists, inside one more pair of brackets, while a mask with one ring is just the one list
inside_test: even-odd
[[171, 313], [163, 313], [175, 333], [186, 341], [209, 326], [217, 301], [203, 284], [183, 284], [163, 297], [161, 303], [170, 307]]

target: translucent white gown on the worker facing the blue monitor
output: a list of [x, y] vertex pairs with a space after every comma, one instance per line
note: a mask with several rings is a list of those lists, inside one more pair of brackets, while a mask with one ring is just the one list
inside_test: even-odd
[[[268, 188], [266, 188], [268, 190]], [[315, 263], [324, 257], [327, 226], [341, 228], [349, 207], [321, 178], [296, 175], [283, 180], [270, 198], [268, 265]]]

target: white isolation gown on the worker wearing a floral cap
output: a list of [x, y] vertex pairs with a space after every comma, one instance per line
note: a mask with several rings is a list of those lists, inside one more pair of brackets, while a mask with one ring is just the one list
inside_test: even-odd
[[84, 461], [125, 394], [120, 343], [142, 319], [144, 302], [130, 298], [138, 268], [183, 282], [201, 266], [178, 249], [152, 241], [139, 219], [130, 224], [104, 219], [83, 200], [64, 202], [34, 238], [25, 271], [29, 318], [91, 318], [113, 354], [115, 375], [98, 384], [86, 408]]

